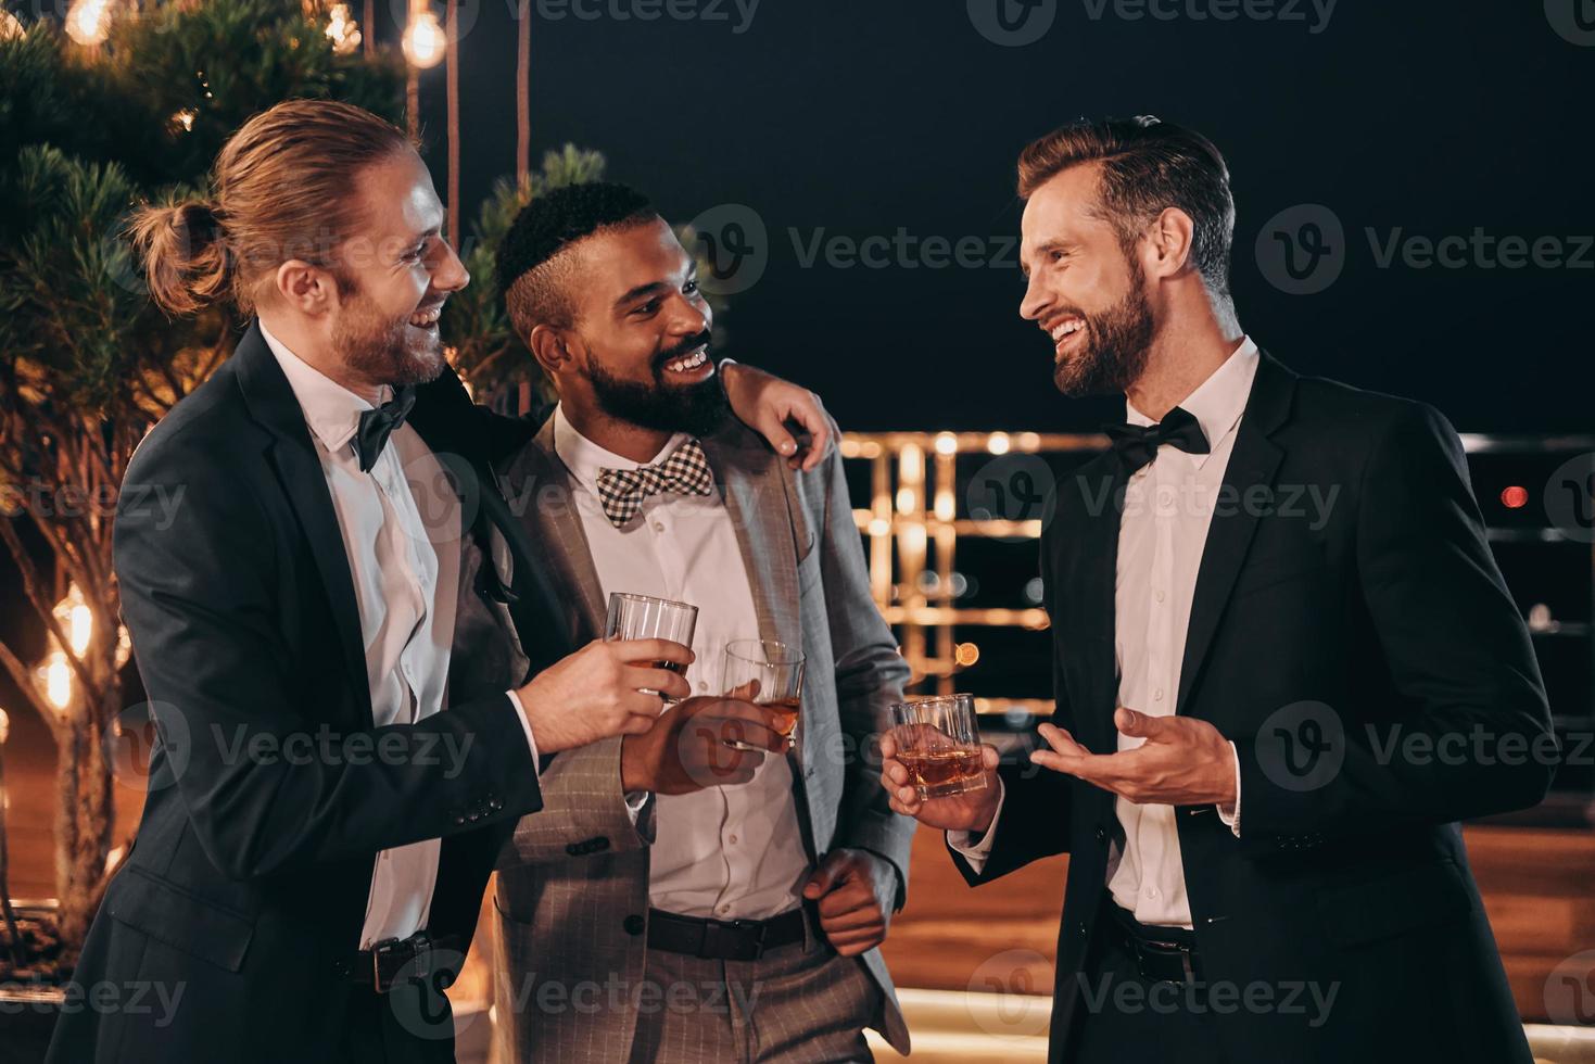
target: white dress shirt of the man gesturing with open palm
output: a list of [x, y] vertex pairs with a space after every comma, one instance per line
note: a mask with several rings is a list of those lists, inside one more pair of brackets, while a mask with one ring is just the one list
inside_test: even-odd
[[[1124, 488], [1113, 595], [1118, 705], [1148, 716], [1171, 716], [1179, 699], [1196, 574], [1241, 415], [1257, 376], [1257, 345], [1244, 337], [1241, 346], [1177, 404], [1196, 418], [1207, 437], [1206, 455], [1188, 455], [1164, 443]], [[1131, 424], [1153, 424], [1128, 399], [1124, 416]], [[1134, 750], [1142, 742], [1118, 735], [1121, 751]], [[1239, 759], [1235, 786], [1235, 809], [1220, 809], [1219, 817], [1239, 834]], [[997, 817], [1005, 796], [998, 796]], [[1107, 885], [1113, 901], [1142, 924], [1191, 927], [1174, 807], [1137, 806], [1124, 798], [1116, 799], [1113, 807], [1124, 828], [1123, 847], [1115, 844], [1109, 853]], [[967, 831], [949, 831], [947, 841], [979, 869], [990, 853], [995, 826], [994, 818], [979, 844], [971, 845]]]

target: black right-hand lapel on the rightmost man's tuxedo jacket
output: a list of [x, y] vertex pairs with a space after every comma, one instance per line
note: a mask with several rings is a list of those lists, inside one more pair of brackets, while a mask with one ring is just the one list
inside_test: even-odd
[[1282, 367], [1266, 351], [1260, 356], [1252, 394], [1230, 451], [1230, 464], [1223, 471], [1223, 488], [1219, 498], [1239, 499], [1243, 504], [1215, 507], [1203, 547], [1201, 568], [1196, 573], [1196, 592], [1191, 598], [1190, 624], [1185, 630], [1185, 657], [1180, 664], [1180, 694], [1176, 711], [1185, 711], [1185, 699], [1196, 683], [1219, 621], [1230, 601], [1235, 579], [1246, 562], [1257, 531], [1260, 507], [1244, 504], [1247, 493], [1271, 488], [1274, 472], [1284, 451], [1270, 434], [1290, 413], [1295, 392], [1295, 373]]

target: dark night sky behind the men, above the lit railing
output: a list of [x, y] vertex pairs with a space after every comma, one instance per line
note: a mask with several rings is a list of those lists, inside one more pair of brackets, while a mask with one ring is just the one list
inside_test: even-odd
[[[1014, 0], [968, 6], [998, 2]], [[1463, 431], [1589, 428], [1595, 45], [1558, 35], [1539, 2], [1341, 0], [1327, 22], [1309, 0], [1258, 5], [1295, 21], [1185, 14], [1223, 2], [1161, 0], [1180, 18], [1132, 21], [1056, 0], [1042, 40], [998, 46], [962, 0], [762, 0], [740, 33], [734, 0], [715, 5], [726, 21], [654, 22], [555, 21], [565, 3], [534, 0], [534, 158], [566, 140], [603, 150], [609, 175], [673, 222], [753, 207], [769, 265], [734, 298], [726, 349], [818, 389], [844, 428], [1069, 429], [1112, 407], [1053, 391], [1050, 348], [1016, 314], [1013, 255], [872, 270], [823, 255], [805, 268], [802, 250], [821, 230], [903, 228], [979, 238], [990, 258], [1018, 231], [1013, 160], [1029, 139], [1077, 115], [1158, 113], [1230, 160], [1236, 301], [1276, 356], [1434, 402]], [[512, 169], [515, 144], [515, 27], [506, 0], [474, 10], [467, 204]], [[424, 91], [442, 187], [440, 70]], [[1295, 204], [1324, 204], [1345, 230], [1343, 273], [1316, 294], [1282, 292], [1258, 265], [1258, 234]], [[1485, 268], [1471, 252], [1461, 268], [1380, 263], [1392, 238], [1475, 230], [1557, 238], [1582, 268]]]

